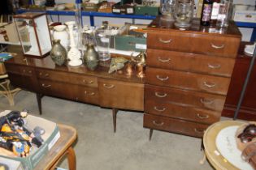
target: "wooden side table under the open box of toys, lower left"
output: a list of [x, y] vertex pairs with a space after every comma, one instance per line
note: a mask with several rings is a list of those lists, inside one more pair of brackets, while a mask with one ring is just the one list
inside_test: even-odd
[[72, 144], [77, 138], [76, 129], [68, 125], [59, 124], [58, 126], [60, 138], [34, 169], [54, 170], [59, 160], [67, 155], [69, 169], [76, 170], [76, 154], [72, 148]]

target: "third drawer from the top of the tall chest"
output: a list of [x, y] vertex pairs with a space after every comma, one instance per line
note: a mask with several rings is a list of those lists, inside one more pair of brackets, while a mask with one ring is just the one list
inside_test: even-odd
[[147, 67], [145, 83], [227, 95], [229, 78]]

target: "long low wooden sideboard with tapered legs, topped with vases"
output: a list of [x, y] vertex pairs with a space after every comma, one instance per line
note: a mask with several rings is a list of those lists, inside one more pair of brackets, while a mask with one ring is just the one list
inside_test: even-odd
[[35, 59], [19, 54], [5, 62], [11, 83], [37, 93], [112, 108], [114, 131], [118, 109], [144, 110], [144, 79], [136, 73], [128, 76], [108, 74], [108, 68], [87, 70], [85, 66], [55, 66], [50, 57]]

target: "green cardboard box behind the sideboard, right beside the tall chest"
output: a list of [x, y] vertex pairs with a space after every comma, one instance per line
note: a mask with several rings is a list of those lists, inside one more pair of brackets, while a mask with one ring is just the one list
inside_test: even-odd
[[145, 51], [146, 38], [144, 33], [134, 32], [130, 29], [131, 27], [143, 29], [147, 25], [126, 23], [124, 28], [120, 28], [119, 34], [115, 36], [115, 49], [137, 52]]

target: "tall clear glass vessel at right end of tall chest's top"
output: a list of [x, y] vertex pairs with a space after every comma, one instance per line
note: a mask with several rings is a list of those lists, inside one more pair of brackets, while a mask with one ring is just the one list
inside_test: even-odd
[[228, 20], [231, 16], [232, 0], [221, 0], [219, 3], [219, 14], [216, 26], [223, 28], [228, 27]]

